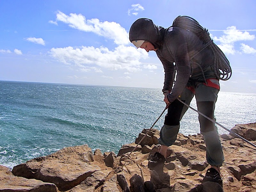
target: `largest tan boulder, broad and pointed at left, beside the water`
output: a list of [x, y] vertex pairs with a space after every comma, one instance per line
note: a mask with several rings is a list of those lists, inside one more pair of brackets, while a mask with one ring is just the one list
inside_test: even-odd
[[100, 167], [93, 161], [87, 145], [63, 148], [49, 156], [39, 157], [13, 167], [12, 173], [28, 179], [54, 183], [60, 191], [67, 191], [84, 181]]

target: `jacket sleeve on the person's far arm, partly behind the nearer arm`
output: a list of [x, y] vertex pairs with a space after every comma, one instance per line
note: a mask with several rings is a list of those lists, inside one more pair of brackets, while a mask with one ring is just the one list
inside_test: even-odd
[[164, 66], [164, 87], [162, 91], [165, 93], [170, 93], [172, 91], [173, 86], [173, 73], [174, 73], [174, 65], [173, 62], [170, 62], [160, 54], [157, 54], [158, 58], [161, 60]]

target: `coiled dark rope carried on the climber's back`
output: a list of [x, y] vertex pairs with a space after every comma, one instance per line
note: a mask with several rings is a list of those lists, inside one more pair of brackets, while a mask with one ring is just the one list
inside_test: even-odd
[[193, 55], [190, 55], [190, 59], [195, 57], [199, 52], [201, 52], [205, 47], [212, 50], [214, 55], [214, 72], [220, 80], [226, 81], [232, 75], [232, 70], [230, 63], [225, 56], [225, 54], [220, 50], [220, 48], [212, 41], [208, 29], [203, 28], [195, 19], [189, 16], [178, 16], [172, 23], [172, 27], [180, 27], [191, 31], [196, 34], [207, 46], [204, 46], [201, 50]]

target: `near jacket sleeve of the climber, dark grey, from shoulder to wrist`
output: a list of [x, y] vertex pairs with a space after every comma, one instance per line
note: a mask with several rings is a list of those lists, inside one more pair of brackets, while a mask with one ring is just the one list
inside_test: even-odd
[[172, 92], [167, 96], [171, 103], [179, 97], [186, 87], [190, 77], [191, 67], [186, 37], [179, 30], [173, 30], [170, 33], [172, 34], [167, 36], [166, 44], [175, 61], [175, 68], [177, 70], [176, 81], [172, 88]]

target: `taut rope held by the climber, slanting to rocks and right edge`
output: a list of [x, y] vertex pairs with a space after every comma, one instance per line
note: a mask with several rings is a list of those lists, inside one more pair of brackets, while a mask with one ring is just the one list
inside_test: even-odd
[[[216, 121], [212, 120], [210, 117], [207, 117], [206, 115], [204, 115], [203, 113], [199, 112], [198, 110], [190, 107], [187, 103], [183, 102], [182, 100], [180, 100], [180, 98], [177, 98], [182, 104], [186, 105], [187, 107], [191, 108], [192, 110], [196, 111], [198, 114], [204, 116], [206, 119], [212, 121], [213, 123], [219, 125], [220, 127], [222, 127], [223, 129], [225, 129], [226, 131], [236, 135], [236, 137], [244, 140], [245, 142], [249, 143], [250, 145], [252, 145], [253, 147], [256, 148], [256, 145], [254, 145], [252, 142], [244, 139], [243, 137], [241, 137], [240, 135], [236, 134], [235, 132], [227, 129], [226, 127], [222, 126], [221, 124], [217, 123]], [[165, 107], [164, 111], [168, 108], [168, 106]], [[164, 111], [161, 113], [161, 115], [156, 119], [155, 123], [150, 127], [150, 129], [146, 132], [146, 134], [141, 138], [141, 140], [139, 141], [139, 143], [136, 145], [135, 148], [132, 149], [132, 151], [129, 153], [129, 155], [124, 159], [124, 161], [132, 154], [132, 152], [138, 147], [138, 145], [140, 145], [141, 141], [147, 136], [148, 132], [154, 127], [154, 125], [156, 124], [156, 122], [160, 119], [160, 117], [164, 114]]]

